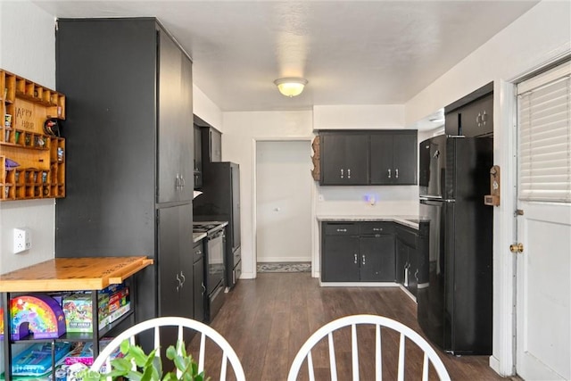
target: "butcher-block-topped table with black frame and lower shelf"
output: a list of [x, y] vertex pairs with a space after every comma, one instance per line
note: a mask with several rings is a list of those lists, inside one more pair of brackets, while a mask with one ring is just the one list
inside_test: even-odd
[[[99, 339], [107, 335], [114, 327], [126, 319], [133, 319], [135, 301], [131, 300], [131, 311], [117, 321], [102, 329], [94, 329], [91, 333], [66, 333], [61, 337], [35, 340], [32, 336], [14, 341], [11, 338], [11, 317], [9, 305], [11, 294], [47, 293], [59, 291], [86, 291], [92, 295], [93, 321], [98, 321], [97, 291], [106, 286], [121, 284], [137, 274], [138, 271], [153, 264], [147, 257], [90, 257], [90, 258], [55, 258], [24, 269], [18, 269], [0, 275], [0, 293], [4, 309], [4, 379], [12, 379], [12, 344], [29, 344], [34, 342], [92, 342], [94, 356], [99, 353]], [[132, 288], [135, 282], [132, 283]], [[135, 294], [135, 290], [131, 290]], [[54, 379], [54, 377], [52, 378]]]

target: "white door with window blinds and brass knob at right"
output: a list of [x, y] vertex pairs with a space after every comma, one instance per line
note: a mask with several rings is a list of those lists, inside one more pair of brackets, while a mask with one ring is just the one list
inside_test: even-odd
[[517, 374], [571, 379], [570, 62], [517, 85], [517, 133]]

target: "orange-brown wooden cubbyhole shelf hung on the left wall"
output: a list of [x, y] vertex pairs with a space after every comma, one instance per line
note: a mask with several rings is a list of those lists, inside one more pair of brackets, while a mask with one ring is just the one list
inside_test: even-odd
[[0, 70], [0, 107], [0, 201], [64, 197], [65, 139], [44, 122], [65, 119], [65, 95]]

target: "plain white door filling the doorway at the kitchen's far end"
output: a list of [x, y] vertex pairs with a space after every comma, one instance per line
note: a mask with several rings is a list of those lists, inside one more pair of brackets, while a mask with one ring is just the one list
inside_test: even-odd
[[258, 262], [311, 261], [310, 141], [256, 145]]

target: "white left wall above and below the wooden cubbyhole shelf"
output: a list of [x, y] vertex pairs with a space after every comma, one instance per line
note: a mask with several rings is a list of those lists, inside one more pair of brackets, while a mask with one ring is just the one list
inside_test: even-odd
[[[29, 1], [0, 2], [0, 67], [55, 89], [54, 17]], [[0, 203], [0, 273], [54, 258], [54, 199]], [[32, 248], [12, 254], [12, 229], [26, 227]]]

